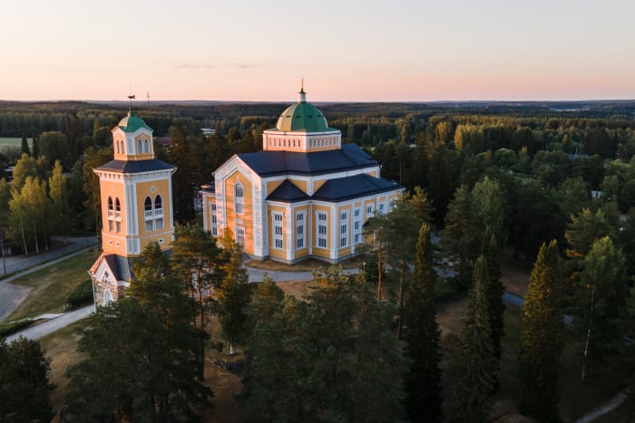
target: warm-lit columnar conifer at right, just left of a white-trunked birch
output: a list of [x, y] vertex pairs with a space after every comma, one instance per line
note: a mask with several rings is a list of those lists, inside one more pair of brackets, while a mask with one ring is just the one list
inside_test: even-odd
[[558, 244], [542, 244], [523, 304], [519, 410], [539, 421], [560, 421], [558, 378], [562, 351], [562, 261]]

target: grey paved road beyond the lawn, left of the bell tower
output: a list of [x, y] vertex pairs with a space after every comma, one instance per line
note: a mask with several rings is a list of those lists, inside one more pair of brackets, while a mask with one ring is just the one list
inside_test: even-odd
[[[96, 239], [94, 237], [93, 237], [93, 240], [95, 240], [96, 242]], [[73, 255], [80, 255], [84, 251], [87, 251], [90, 248], [94, 248], [94, 245], [86, 247], [83, 244], [85, 243], [85, 241], [86, 241], [86, 238], [80, 238], [79, 242], [73, 242], [73, 244], [71, 245], [66, 245], [62, 247], [65, 252], [65, 253], [64, 252], [62, 253], [64, 256], [60, 256], [61, 253], [59, 253], [58, 250], [55, 250], [50, 253], [43, 253], [41, 255], [26, 257], [30, 260], [30, 263], [33, 267], [30, 267], [27, 270], [24, 270], [18, 274], [11, 275], [7, 277], [6, 279], [1, 280], [0, 281], [0, 322], [5, 320], [6, 316], [11, 314], [11, 312], [15, 310], [15, 307], [20, 305], [20, 303], [24, 301], [28, 293], [31, 291], [30, 288], [11, 284], [12, 281], [15, 281], [15, 279], [24, 276], [24, 274], [32, 274], [34, 272], [37, 272], [40, 269], [43, 269], [46, 266], [59, 263], [63, 260], [66, 260], [67, 258], [73, 257]], [[8, 261], [8, 257], [7, 257], [7, 261]], [[38, 263], [43, 263], [43, 264], [38, 264]]]

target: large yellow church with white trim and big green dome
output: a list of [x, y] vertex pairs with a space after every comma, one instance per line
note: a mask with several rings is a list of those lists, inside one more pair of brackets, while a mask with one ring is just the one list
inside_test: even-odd
[[366, 220], [394, 207], [404, 187], [381, 178], [356, 144], [342, 145], [341, 131], [298, 94], [263, 132], [262, 151], [234, 155], [201, 187], [203, 222], [213, 236], [229, 228], [252, 258], [337, 263], [356, 254]]

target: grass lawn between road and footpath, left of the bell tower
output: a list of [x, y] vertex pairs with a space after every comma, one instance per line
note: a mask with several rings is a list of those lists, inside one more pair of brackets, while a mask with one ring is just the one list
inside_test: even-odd
[[68, 295], [89, 278], [88, 269], [98, 255], [97, 251], [75, 255], [16, 279], [13, 284], [32, 288], [32, 291], [5, 321], [35, 317], [47, 312], [63, 312]]

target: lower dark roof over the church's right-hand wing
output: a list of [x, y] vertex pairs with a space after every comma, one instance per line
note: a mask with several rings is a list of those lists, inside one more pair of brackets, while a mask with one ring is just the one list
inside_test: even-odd
[[327, 180], [327, 182], [325, 182], [322, 187], [319, 187], [318, 191], [313, 194], [311, 199], [338, 202], [403, 188], [404, 187], [395, 181], [384, 178], [373, 178], [370, 175], [361, 174]]

